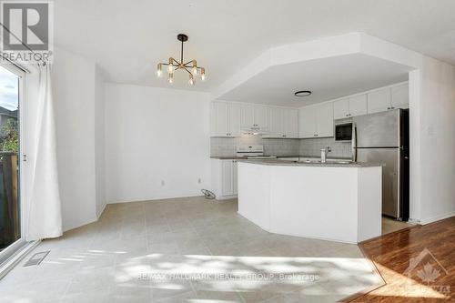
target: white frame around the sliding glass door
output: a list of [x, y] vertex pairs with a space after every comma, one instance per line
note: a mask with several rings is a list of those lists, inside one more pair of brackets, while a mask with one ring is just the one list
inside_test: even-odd
[[4, 67], [11, 73], [18, 76], [18, 97], [19, 97], [19, 152], [18, 152], [18, 176], [19, 176], [19, 191], [17, 192], [17, 202], [20, 207], [20, 237], [9, 247], [6, 247], [0, 252], [0, 268], [5, 262], [15, 256], [15, 254], [25, 247], [27, 244], [25, 240], [25, 228], [26, 228], [26, 195], [25, 195], [25, 71], [19, 69], [12, 64], [0, 63], [0, 66]]

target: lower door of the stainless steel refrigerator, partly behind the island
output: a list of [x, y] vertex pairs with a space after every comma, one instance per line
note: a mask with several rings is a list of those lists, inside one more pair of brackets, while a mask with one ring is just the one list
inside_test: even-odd
[[401, 217], [400, 214], [400, 180], [399, 148], [357, 148], [359, 162], [379, 162], [382, 167], [382, 214], [390, 217]]

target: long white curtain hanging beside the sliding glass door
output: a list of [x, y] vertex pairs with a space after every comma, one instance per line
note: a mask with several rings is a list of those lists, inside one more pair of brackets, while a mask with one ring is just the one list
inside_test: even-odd
[[[62, 212], [56, 161], [56, 125], [50, 65], [38, 66], [35, 157], [30, 157], [31, 192], [27, 203], [26, 240], [62, 236]], [[35, 100], [28, 100], [34, 102]]]

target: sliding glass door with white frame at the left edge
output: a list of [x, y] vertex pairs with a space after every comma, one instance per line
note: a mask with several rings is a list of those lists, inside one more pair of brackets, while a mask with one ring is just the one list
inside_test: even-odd
[[25, 245], [21, 195], [24, 73], [0, 66], [0, 264]]

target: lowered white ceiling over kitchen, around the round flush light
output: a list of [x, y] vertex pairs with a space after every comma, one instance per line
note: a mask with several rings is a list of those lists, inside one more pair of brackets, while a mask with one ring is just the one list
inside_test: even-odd
[[[271, 66], [219, 97], [279, 106], [308, 106], [408, 80], [409, 66], [363, 54]], [[311, 96], [294, 96], [310, 90]]]

